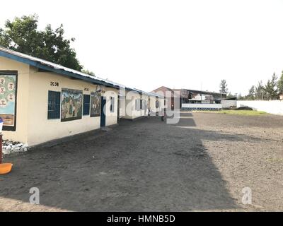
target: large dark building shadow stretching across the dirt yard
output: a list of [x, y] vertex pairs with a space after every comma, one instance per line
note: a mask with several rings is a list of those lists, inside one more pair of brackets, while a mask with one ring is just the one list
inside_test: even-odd
[[5, 157], [14, 168], [0, 177], [0, 197], [28, 202], [38, 187], [40, 204], [76, 211], [238, 208], [202, 140], [245, 137], [199, 130], [192, 118], [168, 125], [159, 117], [120, 121], [101, 133]]

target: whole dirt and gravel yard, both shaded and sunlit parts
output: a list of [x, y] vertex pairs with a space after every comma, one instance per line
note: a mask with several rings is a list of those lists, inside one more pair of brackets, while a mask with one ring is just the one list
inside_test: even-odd
[[[283, 117], [271, 114], [120, 121], [4, 162], [14, 167], [0, 176], [2, 211], [283, 210]], [[40, 205], [29, 204], [31, 187]]]

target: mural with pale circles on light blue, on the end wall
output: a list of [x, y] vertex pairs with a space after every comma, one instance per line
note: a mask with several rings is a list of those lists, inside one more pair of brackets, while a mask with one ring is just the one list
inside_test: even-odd
[[0, 75], [0, 117], [4, 126], [15, 126], [16, 75]]

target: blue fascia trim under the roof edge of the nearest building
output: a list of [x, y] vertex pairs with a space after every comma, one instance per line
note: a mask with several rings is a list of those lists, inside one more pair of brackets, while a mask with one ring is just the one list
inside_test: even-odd
[[18, 57], [16, 55], [9, 54], [7, 52], [2, 52], [1, 50], [0, 50], [0, 57], [6, 57], [8, 59], [13, 59], [13, 60], [19, 61], [23, 64], [29, 64], [30, 66], [35, 66], [38, 69], [43, 69], [43, 70], [46, 70], [46, 71], [52, 71], [54, 73], [59, 73], [59, 74], [64, 75], [64, 76], [69, 76], [69, 77], [72, 77], [72, 78], [77, 78], [77, 79], [81, 79], [81, 80], [84, 80], [84, 81], [88, 81], [90, 83], [105, 85], [105, 86], [112, 87], [112, 88], [118, 88], [118, 89], [120, 88], [117, 85], [112, 85], [110, 83], [98, 81], [95, 78], [88, 78], [88, 77], [85, 77], [85, 76], [81, 76], [77, 73], [71, 73], [69, 71], [64, 71], [64, 70], [61, 70], [61, 69], [54, 69], [51, 66], [42, 65], [42, 64], [40, 64], [40, 62], [33, 61], [33, 60], [30, 60], [30, 59], [26, 59], [24, 57]]

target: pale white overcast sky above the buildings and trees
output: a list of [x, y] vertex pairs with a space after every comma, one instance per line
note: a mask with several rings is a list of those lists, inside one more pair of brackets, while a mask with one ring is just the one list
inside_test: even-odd
[[86, 69], [130, 87], [231, 93], [283, 70], [283, 1], [101, 0], [1, 2], [6, 19], [37, 13], [64, 25]]

